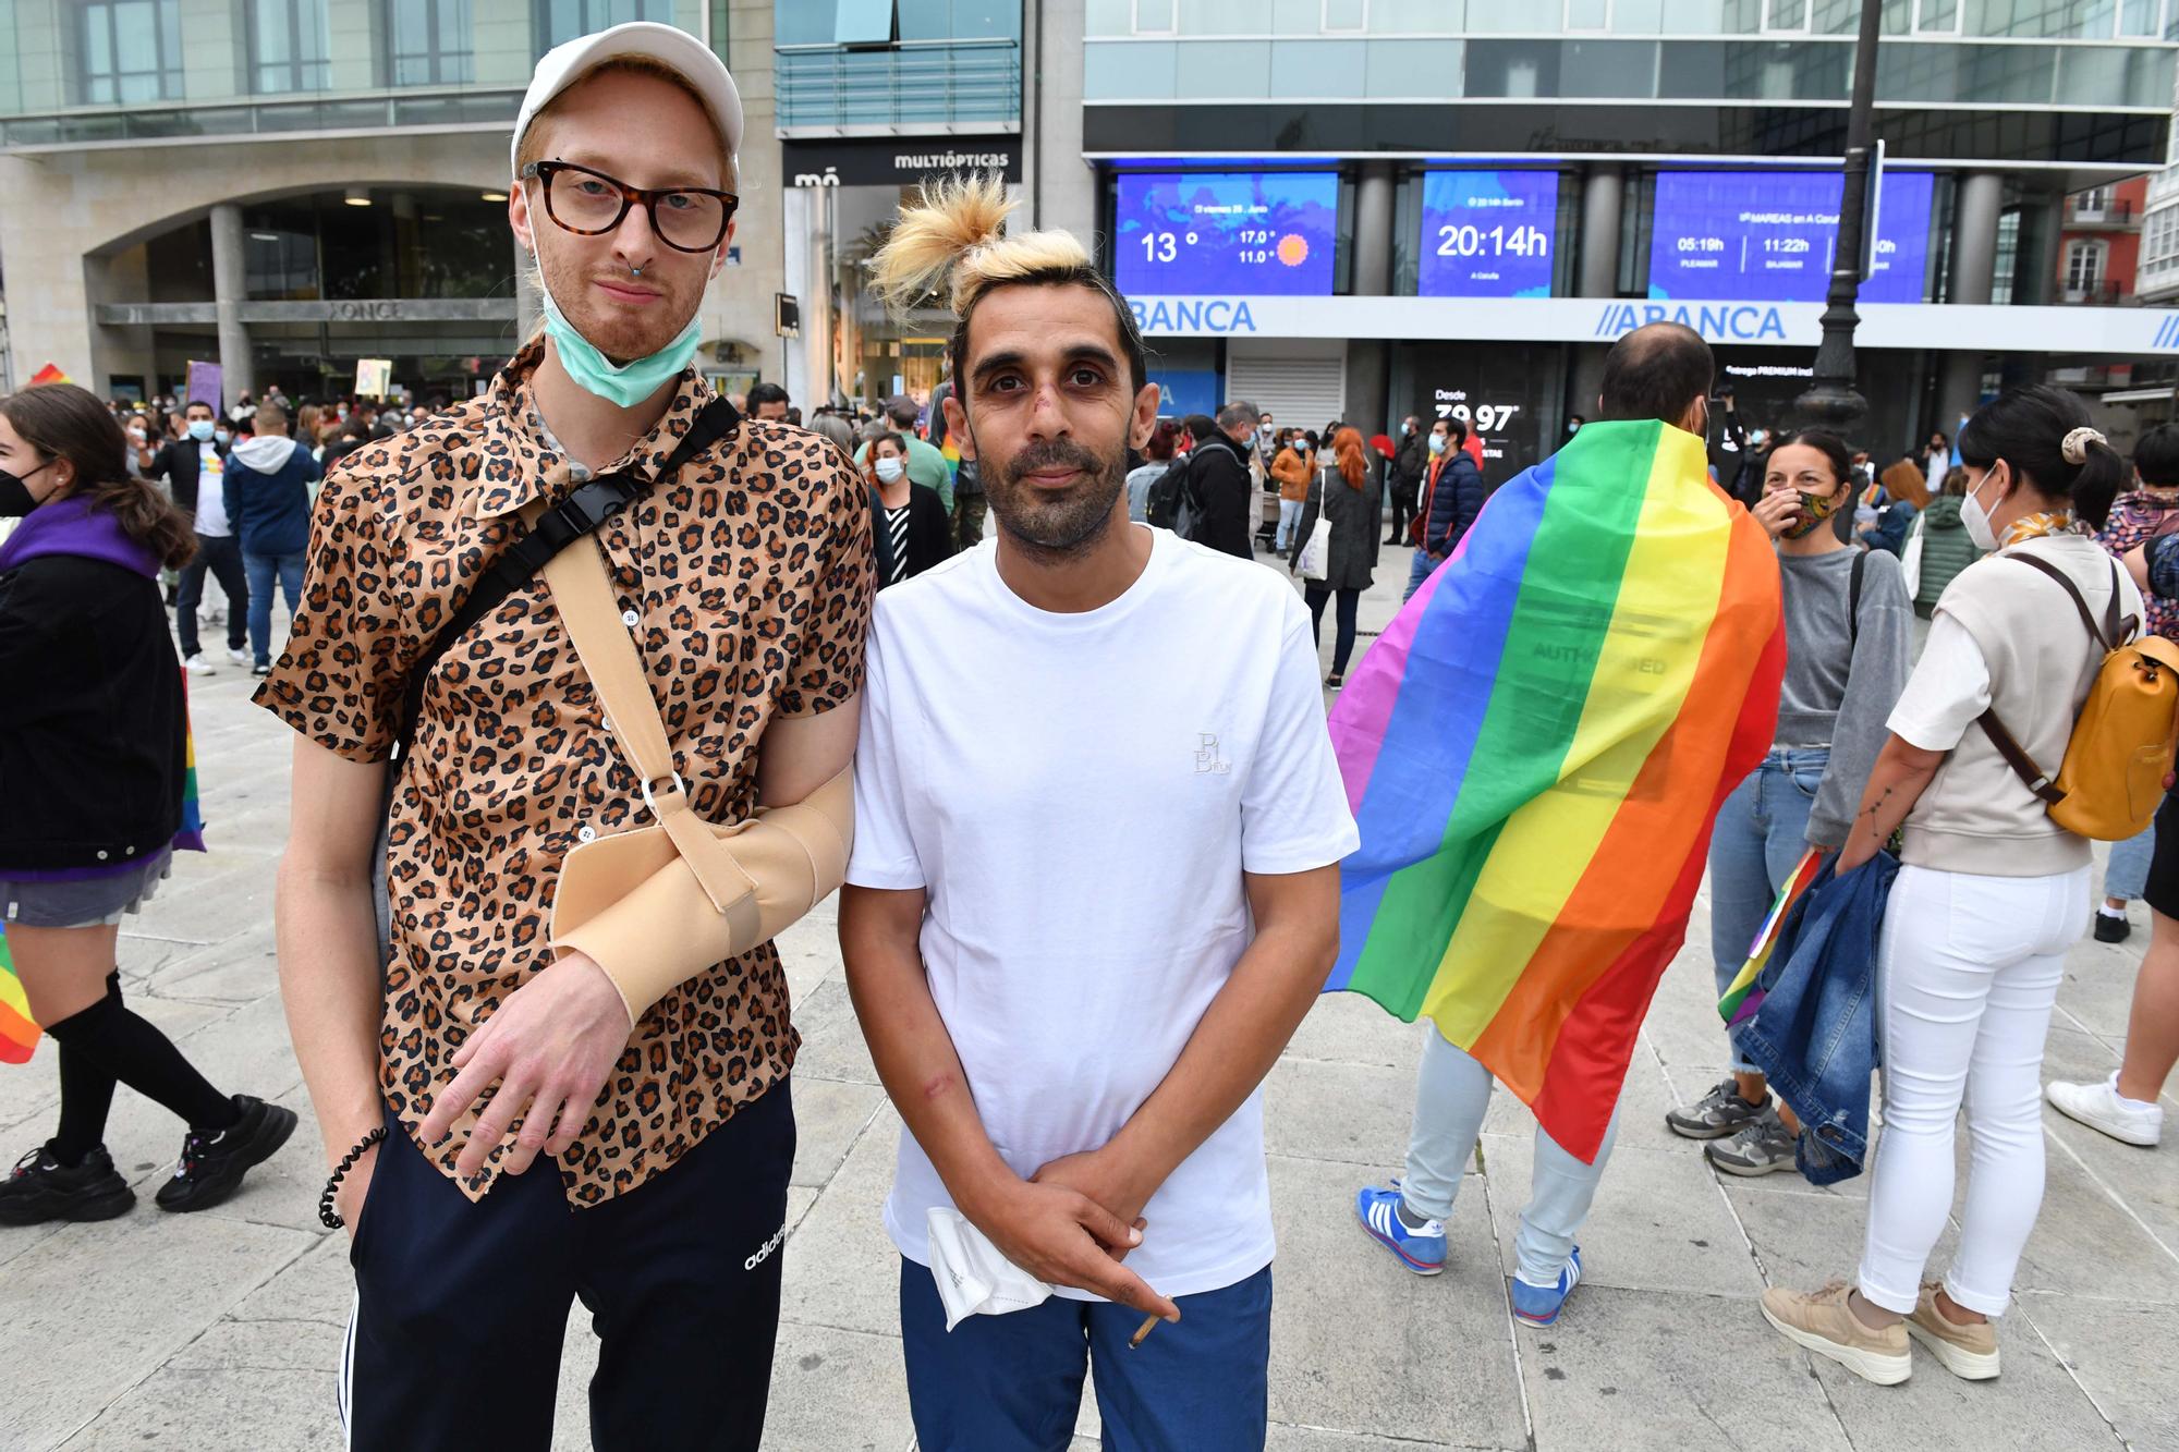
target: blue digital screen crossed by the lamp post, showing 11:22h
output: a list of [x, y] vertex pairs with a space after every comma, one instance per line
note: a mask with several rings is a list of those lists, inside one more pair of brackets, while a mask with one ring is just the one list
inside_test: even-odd
[[[1650, 297], [1822, 303], [1839, 244], [1839, 172], [1658, 172]], [[1885, 172], [1865, 303], [1920, 303], [1931, 172]]]

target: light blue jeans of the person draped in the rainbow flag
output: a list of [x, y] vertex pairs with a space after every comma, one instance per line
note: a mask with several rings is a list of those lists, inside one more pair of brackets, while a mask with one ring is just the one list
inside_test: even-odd
[[[1423, 1038], [1427, 1042], [1414, 1092], [1414, 1129], [1408, 1136], [1408, 1173], [1399, 1182], [1399, 1195], [1412, 1214], [1442, 1221], [1453, 1214], [1453, 1197], [1475, 1158], [1475, 1138], [1484, 1129], [1484, 1110], [1490, 1108], [1497, 1079], [1473, 1055], [1445, 1042], [1436, 1027]], [[1573, 1236], [1597, 1199], [1597, 1182], [1604, 1179], [1604, 1162], [1612, 1158], [1617, 1136], [1615, 1105], [1597, 1162], [1582, 1164], [1536, 1125], [1527, 1208], [1521, 1210], [1521, 1232], [1514, 1236], [1514, 1273], [1527, 1284], [1558, 1284], [1558, 1273], [1573, 1254]]]

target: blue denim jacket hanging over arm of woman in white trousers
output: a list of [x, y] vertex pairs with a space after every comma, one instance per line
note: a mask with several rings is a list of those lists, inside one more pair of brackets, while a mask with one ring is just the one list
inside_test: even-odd
[[1800, 1116], [1793, 1160], [1811, 1184], [1861, 1173], [1870, 1151], [1870, 1070], [1876, 1068], [1876, 942], [1900, 863], [1878, 852], [1846, 876], [1837, 857], [1778, 929], [1741, 1051]]

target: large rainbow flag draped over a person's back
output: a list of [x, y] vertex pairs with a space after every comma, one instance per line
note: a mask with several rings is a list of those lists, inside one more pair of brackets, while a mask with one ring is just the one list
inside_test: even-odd
[[1702, 440], [1584, 425], [1347, 678], [1362, 850], [1325, 990], [1434, 1020], [1593, 1160], [1782, 671], [1769, 536]]

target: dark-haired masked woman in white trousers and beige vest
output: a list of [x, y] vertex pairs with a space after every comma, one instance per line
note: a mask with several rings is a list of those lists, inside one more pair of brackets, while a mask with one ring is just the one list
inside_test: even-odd
[[[2142, 619], [2140, 589], [2094, 539], [2125, 462], [2079, 397], [1998, 395], [1961, 427], [1959, 458], [1961, 517], [1994, 554], [1937, 602], [1839, 852], [1848, 872], [1904, 826], [1876, 944], [1885, 1125], [1861, 1271], [1815, 1295], [1763, 1293], [1789, 1341], [1885, 1384], [1911, 1374], [1909, 1334], [1955, 1376], [1998, 1376], [1994, 1321], [2042, 1206], [2044, 1038], [2066, 953], [2087, 931], [2090, 842], [2050, 820], [1987, 717], [2057, 772], [2105, 656], [2083, 610], [2101, 621], [2116, 604], [2122, 632]], [[1974, 1166], [1959, 1245], [1926, 1284], [1952, 1219], [1963, 1103]]]

